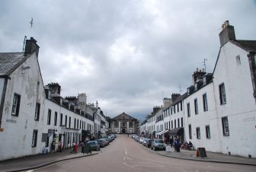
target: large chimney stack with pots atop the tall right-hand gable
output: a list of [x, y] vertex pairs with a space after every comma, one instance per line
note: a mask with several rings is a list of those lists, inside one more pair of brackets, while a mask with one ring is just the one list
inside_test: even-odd
[[222, 24], [222, 31], [219, 33], [220, 46], [224, 46], [229, 40], [235, 40], [235, 29], [229, 25], [229, 21]]

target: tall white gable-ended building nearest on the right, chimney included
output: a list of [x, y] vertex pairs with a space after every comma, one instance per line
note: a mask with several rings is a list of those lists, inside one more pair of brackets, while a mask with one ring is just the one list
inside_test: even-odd
[[218, 149], [256, 158], [256, 40], [236, 40], [228, 21], [219, 39], [213, 71]]

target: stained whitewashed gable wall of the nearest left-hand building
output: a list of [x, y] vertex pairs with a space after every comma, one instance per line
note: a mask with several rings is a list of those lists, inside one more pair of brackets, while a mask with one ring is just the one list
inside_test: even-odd
[[[38, 102], [44, 106], [45, 93], [41, 79], [36, 54], [32, 54], [25, 62], [29, 69], [22, 69], [20, 65], [8, 80], [5, 94], [5, 105], [2, 116], [3, 132], [0, 132], [0, 159], [18, 158], [28, 154], [40, 153], [40, 135], [43, 129], [43, 108], [40, 108], [40, 120], [35, 121], [37, 103], [37, 81], [40, 82]], [[24, 70], [24, 73], [22, 73]], [[21, 104], [18, 116], [11, 116], [14, 93], [21, 95]], [[32, 148], [32, 135], [34, 129], [37, 133], [37, 147]]]

